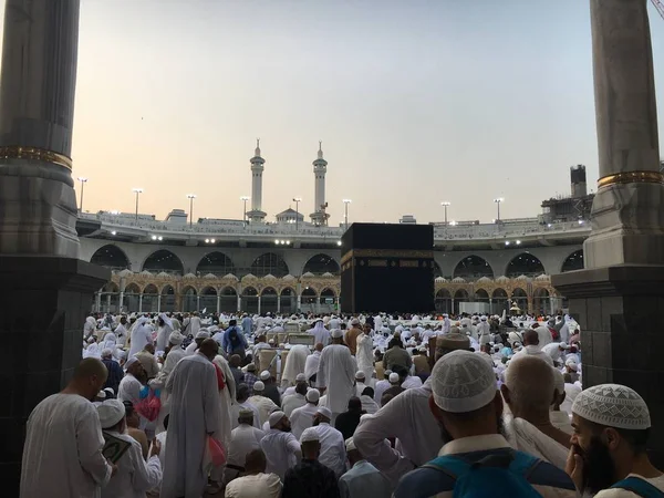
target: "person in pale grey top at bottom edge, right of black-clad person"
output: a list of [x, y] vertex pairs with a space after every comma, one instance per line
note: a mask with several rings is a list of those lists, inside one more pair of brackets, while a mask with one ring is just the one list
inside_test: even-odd
[[339, 479], [341, 496], [343, 498], [390, 498], [392, 496], [390, 480], [364, 459], [352, 437], [345, 440], [345, 448], [351, 469]]

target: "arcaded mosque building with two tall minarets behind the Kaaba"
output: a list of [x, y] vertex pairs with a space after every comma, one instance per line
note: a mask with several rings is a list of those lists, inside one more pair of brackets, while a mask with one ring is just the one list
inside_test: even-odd
[[[346, 224], [330, 224], [328, 162], [313, 160], [314, 209], [309, 220], [292, 206], [274, 220], [262, 209], [266, 159], [257, 141], [250, 159], [250, 210], [245, 219], [199, 218], [173, 209], [165, 220], [139, 212], [81, 212], [81, 259], [113, 270], [94, 297], [94, 311], [331, 312], [340, 295], [340, 245]], [[571, 195], [542, 201], [542, 214], [491, 224], [434, 225], [435, 304], [458, 312], [474, 302], [501, 313], [566, 308], [550, 276], [583, 268], [593, 194], [585, 167], [571, 167]], [[345, 203], [350, 203], [344, 199]], [[347, 207], [347, 204], [346, 204]], [[400, 222], [416, 222], [404, 216]]]

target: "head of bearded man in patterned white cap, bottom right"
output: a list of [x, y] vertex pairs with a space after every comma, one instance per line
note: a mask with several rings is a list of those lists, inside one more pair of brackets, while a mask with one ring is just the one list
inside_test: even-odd
[[583, 483], [598, 492], [625, 476], [645, 454], [651, 418], [647, 405], [632, 388], [601, 384], [582, 391], [572, 405], [572, 445], [583, 458]]

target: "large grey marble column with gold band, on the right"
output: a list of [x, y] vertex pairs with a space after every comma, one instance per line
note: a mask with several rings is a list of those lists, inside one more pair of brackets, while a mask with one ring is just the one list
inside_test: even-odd
[[646, 0], [591, 0], [600, 180], [585, 269], [553, 276], [581, 326], [583, 386], [636, 390], [664, 465], [664, 185]]

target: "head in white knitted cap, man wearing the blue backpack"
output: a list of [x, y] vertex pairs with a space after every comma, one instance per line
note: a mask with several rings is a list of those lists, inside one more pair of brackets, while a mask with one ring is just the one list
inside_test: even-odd
[[445, 440], [500, 432], [502, 400], [494, 369], [479, 354], [446, 354], [434, 365], [430, 380], [429, 408]]

